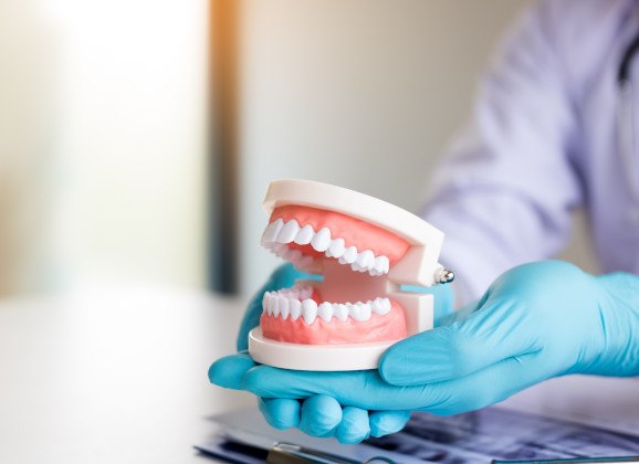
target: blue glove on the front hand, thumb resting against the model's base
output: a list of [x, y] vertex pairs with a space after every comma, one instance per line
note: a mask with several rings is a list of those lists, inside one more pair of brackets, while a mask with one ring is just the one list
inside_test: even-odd
[[[394, 345], [379, 371], [282, 370], [254, 366], [240, 355], [216, 362], [211, 381], [233, 377], [235, 387], [270, 399], [265, 401], [320, 396], [334, 399], [343, 411], [448, 415], [490, 405], [562, 375], [639, 375], [635, 275], [594, 277], [557, 261], [526, 264], [497, 278], [465, 314]], [[332, 414], [328, 407], [314, 412], [318, 422]]]

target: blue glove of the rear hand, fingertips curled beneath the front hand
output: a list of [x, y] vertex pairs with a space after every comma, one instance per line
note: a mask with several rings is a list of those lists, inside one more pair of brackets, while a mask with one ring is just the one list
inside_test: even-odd
[[[240, 326], [237, 340], [240, 352], [211, 366], [209, 379], [212, 382], [226, 388], [242, 389], [242, 375], [256, 366], [245, 350], [249, 331], [260, 324], [264, 293], [291, 287], [298, 278], [321, 280], [316, 275], [296, 271], [291, 264], [284, 264], [258, 291]], [[418, 292], [420, 288], [411, 287], [407, 291]], [[276, 429], [298, 426], [310, 435], [336, 436], [343, 443], [357, 443], [369, 435], [383, 436], [397, 432], [410, 419], [409, 411], [368, 412], [358, 408], [343, 408], [337, 400], [327, 396], [312, 396], [303, 401], [284, 398], [259, 398], [258, 401], [266, 421]]]

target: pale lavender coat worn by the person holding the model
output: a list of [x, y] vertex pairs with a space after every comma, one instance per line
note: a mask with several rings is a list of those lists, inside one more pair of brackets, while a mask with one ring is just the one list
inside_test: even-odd
[[461, 303], [503, 271], [556, 255], [580, 207], [601, 271], [639, 273], [639, 149], [620, 135], [639, 138], [639, 108], [620, 117], [639, 104], [639, 54], [637, 92], [617, 78], [637, 34], [639, 1], [548, 0], [506, 41], [423, 212], [447, 234], [441, 262]]

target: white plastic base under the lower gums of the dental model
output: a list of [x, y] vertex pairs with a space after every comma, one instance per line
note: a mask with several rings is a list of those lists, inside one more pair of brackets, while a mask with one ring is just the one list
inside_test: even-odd
[[287, 344], [264, 338], [262, 329], [255, 327], [249, 334], [249, 352], [255, 362], [282, 369], [365, 370], [377, 369], [381, 354], [396, 341], [345, 345]]

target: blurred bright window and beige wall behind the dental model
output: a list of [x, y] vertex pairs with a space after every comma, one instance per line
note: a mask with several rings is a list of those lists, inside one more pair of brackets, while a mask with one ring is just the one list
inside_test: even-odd
[[276, 178], [416, 211], [530, 3], [3, 0], [0, 294], [250, 293]]

